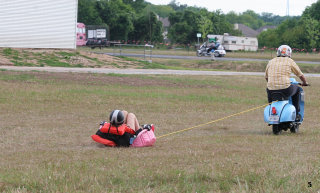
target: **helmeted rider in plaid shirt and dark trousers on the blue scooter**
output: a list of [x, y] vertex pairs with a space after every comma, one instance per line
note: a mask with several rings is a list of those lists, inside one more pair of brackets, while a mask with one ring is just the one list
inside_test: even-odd
[[293, 72], [302, 81], [302, 86], [308, 86], [307, 80], [299, 66], [291, 59], [292, 50], [288, 45], [281, 45], [277, 50], [277, 57], [269, 61], [265, 78], [267, 81], [268, 102], [272, 102], [271, 94], [280, 92], [286, 97], [292, 97], [296, 108], [296, 119], [299, 120], [300, 90], [297, 85], [290, 84], [290, 74]]

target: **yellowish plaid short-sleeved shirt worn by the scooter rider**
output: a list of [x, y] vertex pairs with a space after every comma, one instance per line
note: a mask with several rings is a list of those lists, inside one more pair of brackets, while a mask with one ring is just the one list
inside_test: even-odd
[[268, 78], [269, 90], [286, 89], [290, 86], [290, 75], [303, 75], [299, 66], [289, 57], [276, 57], [269, 61], [265, 78]]

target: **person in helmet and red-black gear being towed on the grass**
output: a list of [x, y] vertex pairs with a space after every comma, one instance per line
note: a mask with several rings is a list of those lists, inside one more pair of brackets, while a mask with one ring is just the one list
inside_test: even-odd
[[144, 125], [140, 128], [139, 121], [135, 114], [127, 111], [114, 110], [109, 116], [110, 122], [100, 123], [100, 128], [92, 139], [107, 146], [129, 147], [138, 132], [145, 127], [150, 127], [154, 131], [153, 125]]

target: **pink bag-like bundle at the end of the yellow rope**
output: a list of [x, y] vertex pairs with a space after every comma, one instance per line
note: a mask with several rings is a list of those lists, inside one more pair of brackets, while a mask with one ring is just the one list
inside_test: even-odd
[[133, 141], [132, 147], [152, 146], [156, 142], [156, 136], [153, 130], [143, 129]]

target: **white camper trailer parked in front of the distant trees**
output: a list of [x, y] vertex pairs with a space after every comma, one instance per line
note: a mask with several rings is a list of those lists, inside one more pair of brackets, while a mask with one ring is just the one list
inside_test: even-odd
[[223, 45], [227, 51], [257, 51], [258, 50], [258, 39], [255, 37], [241, 37], [241, 36], [229, 36], [224, 35], [208, 35], [208, 39], [217, 38], [217, 41]]

